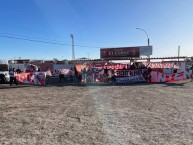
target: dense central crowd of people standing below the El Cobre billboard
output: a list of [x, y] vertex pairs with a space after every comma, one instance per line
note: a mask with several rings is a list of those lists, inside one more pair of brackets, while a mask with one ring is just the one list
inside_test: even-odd
[[151, 71], [151, 68], [139, 64], [133, 64], [129, 68], [123, 67], [118, 70], [109, 66], [103, 66], [102, 68], [86, 66], [78, 71], [76, 67], [73, 67], [69, 70], [68, 74], [62, 74], [62, 71], [60, 71], [59, 82], [115, 83], [119, 77], [129, 77], [140, 74], [142, 74], [148, 82], [151, 82]]

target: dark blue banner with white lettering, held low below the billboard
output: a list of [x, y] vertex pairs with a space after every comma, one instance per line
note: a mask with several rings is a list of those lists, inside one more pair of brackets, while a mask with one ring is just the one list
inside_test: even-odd
[[137, 82], [146, 82], [146, 79], [143, 77], [143, 75], [116, 78], [116, 83], [118, 84], [137, 83]]

